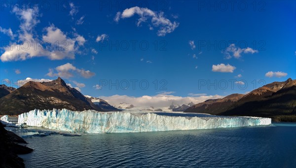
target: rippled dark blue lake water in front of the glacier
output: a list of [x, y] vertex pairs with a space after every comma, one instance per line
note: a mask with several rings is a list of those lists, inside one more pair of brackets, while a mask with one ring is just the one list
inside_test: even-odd
[[24, 139], [27, 168], [296, 167], [296, 123]]

